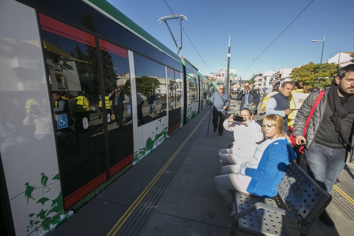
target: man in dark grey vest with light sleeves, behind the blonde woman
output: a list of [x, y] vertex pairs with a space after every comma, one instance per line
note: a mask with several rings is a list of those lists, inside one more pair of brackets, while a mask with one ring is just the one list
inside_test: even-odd
[[287, 125], [287, 116], [292, 112], [293, 109], [290, 109], [290, 100], [289, 96], [293, 89], [291, 82], [284, 82], [280, 87], [280, 93], [273, 95], [269, 98], [267, 103], [267, 109], [265, 113], [267, 115], [276, 114], [280, 115], [284, 119], [284, 132], [287, 133], [289, 127]]

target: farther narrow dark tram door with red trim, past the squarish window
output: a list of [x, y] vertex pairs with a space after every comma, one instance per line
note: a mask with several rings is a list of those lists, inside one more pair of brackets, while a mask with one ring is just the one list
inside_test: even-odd
[[181, 76], [179, 71], [167, 68], [169, 83], [169, 134], [181, 124]]

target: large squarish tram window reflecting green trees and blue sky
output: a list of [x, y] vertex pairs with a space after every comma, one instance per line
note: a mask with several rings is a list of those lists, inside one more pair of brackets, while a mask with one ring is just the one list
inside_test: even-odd
[[[157, 120], [167, 113], [165, 67], [134, 53], [138, 126]], [[147, 97], [155, 95], [155, 105], [148, 105]], [[153, 108], [153, 109], [152, 109]]]

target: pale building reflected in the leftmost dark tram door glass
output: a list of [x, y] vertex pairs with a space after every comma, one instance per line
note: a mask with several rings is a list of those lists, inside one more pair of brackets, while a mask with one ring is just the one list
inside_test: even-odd
[[[56, 81], [51, 85], [51, 90], [67, 90], [69, 94], [75, 95], [77, 91], [82, 91], [76, 67], [77, 59], [45, 39], [43, 40], [43, 45], [49, 70], [49, 84], [52, 81]], [[61, 73], [58, 74], [56, 71], [61, 71]], [[59, 75], [62, 75], [62, 77]]]

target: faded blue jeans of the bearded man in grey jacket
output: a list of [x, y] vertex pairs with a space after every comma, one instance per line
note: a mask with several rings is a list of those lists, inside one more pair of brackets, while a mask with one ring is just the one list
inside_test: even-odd
[[345, 165], [346, 150], [313, 142], [305, 151], [308, 174], [329, 193]]

